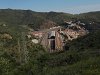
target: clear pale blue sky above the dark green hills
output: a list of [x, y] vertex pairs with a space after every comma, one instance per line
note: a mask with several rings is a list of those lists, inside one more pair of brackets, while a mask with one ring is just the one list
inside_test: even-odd
[[0, 9], [6, 8], [79, 14], [100, 11], [100, 0], [0, 0]]

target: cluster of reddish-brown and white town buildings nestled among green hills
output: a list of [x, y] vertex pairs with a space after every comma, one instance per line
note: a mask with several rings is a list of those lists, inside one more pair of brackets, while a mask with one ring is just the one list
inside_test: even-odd
[[78, 22], [65, 22], [66, 26], [55, 26], [49, 29], [30, 31], [28, 38], [32, 38], [34, 44], [41, 44], [44, 48], [53, 51], [64, 50], [67, 41], [77, 39], [78, 37], [88, 34], [88, 30], [84, 27], [85, 23]]

